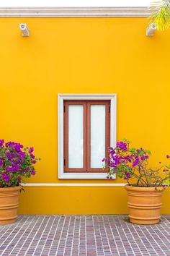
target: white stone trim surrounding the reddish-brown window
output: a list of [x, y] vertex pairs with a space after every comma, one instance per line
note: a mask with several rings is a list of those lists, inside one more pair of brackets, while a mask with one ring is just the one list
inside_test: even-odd
[[[116, 145], [117, 95], [116, 94], [58, 94], [58, 179], [106, 179], [105, 173], [64, 173], [63, 166], [63, 101], [110, 100], [110, 145]], [[115, 178], [115, 177], [114, 177]]]

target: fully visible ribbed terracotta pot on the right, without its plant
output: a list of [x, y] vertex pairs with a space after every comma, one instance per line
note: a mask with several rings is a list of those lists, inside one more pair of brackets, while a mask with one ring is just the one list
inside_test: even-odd
[[156, 224], [161, 218], [162, 187], [133, 187], [126, 185], [131, 223]]

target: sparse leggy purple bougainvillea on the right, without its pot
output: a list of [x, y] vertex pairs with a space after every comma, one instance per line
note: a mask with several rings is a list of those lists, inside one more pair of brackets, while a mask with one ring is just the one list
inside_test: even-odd
[[[107, 179], [117, 174], [129, 185], [137, 187], [169, 187], [170, 165], [158, 163], [158, 168], [148, 167], [150, 150], [130, 148], [130, 141], [117, 142], [115, 148], [109, 147], [108, 158], [103, 158], [104, 167], [108, 168]], [[166, 155], [166, 158], [170, 158]]]

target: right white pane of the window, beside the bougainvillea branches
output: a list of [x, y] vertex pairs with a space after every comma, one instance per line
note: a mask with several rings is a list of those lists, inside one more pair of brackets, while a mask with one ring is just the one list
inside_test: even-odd
[[105, 105], [91, 105], [91, 168], [102, 168], [105, 156]]

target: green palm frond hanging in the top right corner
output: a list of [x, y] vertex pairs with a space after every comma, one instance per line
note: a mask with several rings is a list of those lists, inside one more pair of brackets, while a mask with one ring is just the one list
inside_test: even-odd
[[157, 24], [158, 30], [167, 30], [170, 27], [170, 0], [154, 1], [150, 7], [151, 23]]

